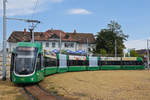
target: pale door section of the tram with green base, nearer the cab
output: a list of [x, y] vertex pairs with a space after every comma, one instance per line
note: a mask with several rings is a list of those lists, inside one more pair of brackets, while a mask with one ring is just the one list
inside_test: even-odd
[[59, 60], [59, 66], [58, 66], [58, 73], [63, 73], [63, 72], [67, 72], [68, 68], [67, 68], [67, 55], [64, 54], [59, 54], [58, 55], [58, 60]]

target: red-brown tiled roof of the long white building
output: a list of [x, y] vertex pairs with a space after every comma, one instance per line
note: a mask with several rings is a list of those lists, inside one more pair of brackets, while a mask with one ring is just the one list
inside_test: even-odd
[[[62, 36], [62, 41], [70, 41], [70, 42], [79, 42], [79, 43], [87, 43], [87, 39], [89, 43], [95, 43], [94, 35], [91, 33], [65, 33], [62, 30], [48, 30], [46, 32], [34, 32], [35, 41], [47, 41], [52, 38], [53, 35], [56, 35], [57, 38], [60, 38], [60, 33]], [[14, 31], [8, 38], [8, 42], [29, 42], [31, 41], [30, 32], [24, 31]]]

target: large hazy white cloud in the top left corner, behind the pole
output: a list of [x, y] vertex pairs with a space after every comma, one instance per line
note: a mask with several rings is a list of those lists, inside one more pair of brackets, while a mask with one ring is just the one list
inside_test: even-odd
[[[48, 0], [38, 0], [37, 9], [33, 10], [37, 0], [8, 0], [7, 16], [28, 15], [42, 11], [42, 5]], [[2, 2], [0, 3], [2, 13]]]

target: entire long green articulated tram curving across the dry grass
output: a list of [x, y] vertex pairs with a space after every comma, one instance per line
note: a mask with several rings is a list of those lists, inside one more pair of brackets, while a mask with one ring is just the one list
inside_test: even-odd
[[37, 83], [44, 76], [93, 70], [143, 70], [140, 57], [93, 57], [43, 53], [40, 43], [19, 42], [11, 56], [10, 79], [14, 83]]

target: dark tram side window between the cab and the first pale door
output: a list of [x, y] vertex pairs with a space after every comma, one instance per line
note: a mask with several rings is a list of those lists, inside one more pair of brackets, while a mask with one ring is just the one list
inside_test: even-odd
[[44, 66], [45, 67], [55, 67], [57, 66], [57, 60], [53, 58], [44, 58]]

